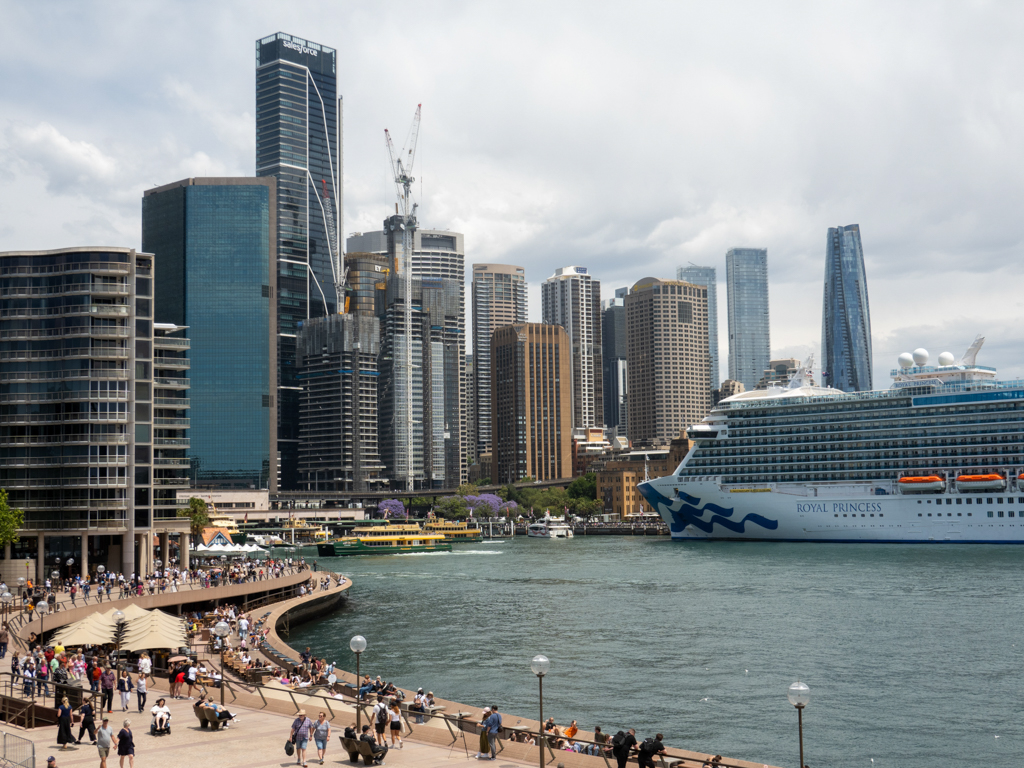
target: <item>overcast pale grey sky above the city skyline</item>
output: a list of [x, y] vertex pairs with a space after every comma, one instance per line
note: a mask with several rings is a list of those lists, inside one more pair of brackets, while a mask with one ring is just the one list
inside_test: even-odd
[[[714, 6], [714, 7], [711, 7]], [[394, 207], [469, 264], [605, 296], [768, 249], [773, 355], [818, 351], [825, 233], [858, 223], [874, 386], [918, 346], [1024, 375], [1024, 4], [0, 0], [0, 251], [140, 245], [143, 189], [252, 175], [255, 41], [339, 52], [345, 229]], [[468, 297], [467, 292], [467, 297]], [[467, 306], [467, 311], [469, 307]]]

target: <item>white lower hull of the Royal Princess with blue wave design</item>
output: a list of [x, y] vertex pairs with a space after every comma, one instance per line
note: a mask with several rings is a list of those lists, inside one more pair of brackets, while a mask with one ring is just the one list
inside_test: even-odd
[[1024, 544], [1024, 488], [880, 495], [882, 486], [736, 487], [669, 475], [638, 488], [680, 541]]

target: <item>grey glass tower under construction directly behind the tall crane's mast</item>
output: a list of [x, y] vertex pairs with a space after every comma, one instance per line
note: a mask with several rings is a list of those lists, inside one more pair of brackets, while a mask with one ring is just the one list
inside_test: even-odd
[[[413, 281], [413, 391], [407, 392], [404, 281], [393, 273], [381, 323], [378, 381], [378, 440], [385, 472], [393, 486], [404, 488], [413, 476], [417, 488], [454, 488], [463, 478], [460, 425], [463, 423], [464, 359], [459, 325], [462, 284], [423, 278]], [[407, 432], [407, 398], [413, 402], [412, 452]]]

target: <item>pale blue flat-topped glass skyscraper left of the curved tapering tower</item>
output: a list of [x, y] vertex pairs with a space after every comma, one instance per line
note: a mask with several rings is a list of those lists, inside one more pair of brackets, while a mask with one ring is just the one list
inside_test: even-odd
[[754, 389], [771, 358], [768, 323], [768, 249], [725, 254], [729, 303], [729, 378]]

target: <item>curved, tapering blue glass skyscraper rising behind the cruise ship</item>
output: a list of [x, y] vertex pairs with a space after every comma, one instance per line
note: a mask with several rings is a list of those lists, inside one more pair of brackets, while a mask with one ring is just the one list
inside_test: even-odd
[[828, 228], [821, 379], [844, 392], [871, 388], [871, 313], [859, 224]]

